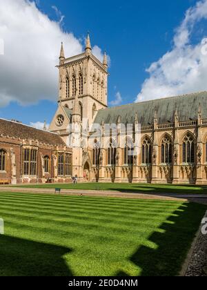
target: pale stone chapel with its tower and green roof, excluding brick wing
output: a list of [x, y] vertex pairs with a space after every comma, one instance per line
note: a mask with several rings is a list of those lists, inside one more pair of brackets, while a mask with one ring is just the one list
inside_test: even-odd
[[81, 55], [66, 59], [61, 46], [58, 68], [50, 131], [72, 148], [79, 180], [206, 184], [206, 92], [107, 108], [107, 58], [92, 55], [89, 36]]

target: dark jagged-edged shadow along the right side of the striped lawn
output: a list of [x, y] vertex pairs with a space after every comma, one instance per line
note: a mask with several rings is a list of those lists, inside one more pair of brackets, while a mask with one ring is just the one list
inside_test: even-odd
[[[161, 224], [164, 233], [154, 232], [148, 238], [157, 249], [141, 246], [130, 257], [141, 276], [177, 276], [199, 229], [206, 206], [185, 203]], [[120, 271], [117, 276], [128, 276]]]

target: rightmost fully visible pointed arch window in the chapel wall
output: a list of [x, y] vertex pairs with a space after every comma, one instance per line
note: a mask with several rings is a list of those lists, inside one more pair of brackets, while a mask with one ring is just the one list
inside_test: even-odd
[[195, 142], [193, 136], [190, 133], [188, 133], [186, 137], [184, 137], [183, 162], [184, 163], [195, 162]]

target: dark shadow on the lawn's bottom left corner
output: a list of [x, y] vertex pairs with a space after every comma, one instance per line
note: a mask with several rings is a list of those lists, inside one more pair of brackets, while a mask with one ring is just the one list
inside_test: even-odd
[[72, 276], [65, 247], [0, 235], [0, 276]]

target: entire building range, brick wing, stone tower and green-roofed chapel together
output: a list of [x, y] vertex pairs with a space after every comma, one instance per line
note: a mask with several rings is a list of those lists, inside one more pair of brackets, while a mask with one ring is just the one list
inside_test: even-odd
[[[90, 37], [59, 57], [49, 131], [0, 119], [0, 183], [207, 183], [207, 92], [108, 108], [108, 63]], [[46, 172], [47, 171], [47, 172]]]

